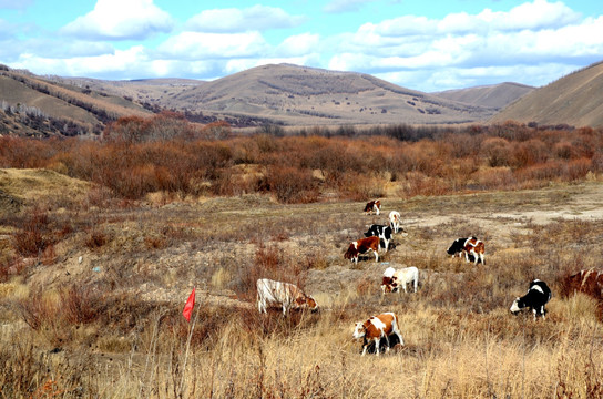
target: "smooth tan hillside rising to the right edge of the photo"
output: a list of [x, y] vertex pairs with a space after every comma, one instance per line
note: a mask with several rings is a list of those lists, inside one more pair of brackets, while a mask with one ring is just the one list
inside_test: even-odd
[[508, 120], [603, 126], [603, 62], [534, 90], [494, 115], [491, 122]]

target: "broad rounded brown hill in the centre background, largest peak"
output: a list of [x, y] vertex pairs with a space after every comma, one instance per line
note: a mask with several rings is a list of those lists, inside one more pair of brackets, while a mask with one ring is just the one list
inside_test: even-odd
[[436, 98], [368, 74], [263, 65], [174, 95], [178, 109], [265, 117], [292, 125], [460, 123], [492, 110]]

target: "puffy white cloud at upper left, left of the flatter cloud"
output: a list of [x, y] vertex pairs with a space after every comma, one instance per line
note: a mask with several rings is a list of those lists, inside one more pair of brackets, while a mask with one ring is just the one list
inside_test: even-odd
[[98, 0], [94, 9], [62, 28], [62, 32], [81, 39], [144, 39], [172, 30], [168, 13], [153, 0]]

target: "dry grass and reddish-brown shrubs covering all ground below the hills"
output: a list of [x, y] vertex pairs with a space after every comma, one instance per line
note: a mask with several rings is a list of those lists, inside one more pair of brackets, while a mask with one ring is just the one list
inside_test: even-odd
[[[166, 141], [129, 122], [103, 142], [0, 139], [0, 397], [603, 395], [600, 304], [561, 289], [600, 266], [601, 131]], [[387, 266], [344, 262], [385, 222], [362, 215], [372, 197], [402, 214], [381, 262], [419, 267], [418, 294], [381, 300]], [[486, 267], [446, 257], [470, 234]], [[260, 317], [260, 276], [321, 310]], [[532, 278], [553, 290], [544, 321], [508, 310]], [[384, 310], [407, 346], [361, 358], [354, 323]]]

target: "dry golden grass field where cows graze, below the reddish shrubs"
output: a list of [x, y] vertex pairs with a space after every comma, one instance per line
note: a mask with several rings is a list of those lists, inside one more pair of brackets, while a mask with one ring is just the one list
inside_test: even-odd
[[[600, 267], [595, 177], [386, 197], [380, 216], [260, 194], [115, 200], [41, 170], [2, 171], [0, 194], [0, 398], [603, 396], [600, 305], [563, 295], [564, 277]], [[391, 209], [408, 236], [379, 263], [345, 260]], [[447, 257], [468, 235], [484, 241], [486, 266]], [[405, 265], [421, 270], [419, 291], [381, 298], [382, 270]], [[259, 277], [298, 284], [320, 311], [260, 316]], [[509, 313], [533, 278], [553, 290], [535, 323]], [[381, 311], [399, 315], [406, 346], [360, 357], [354, 325]]]

